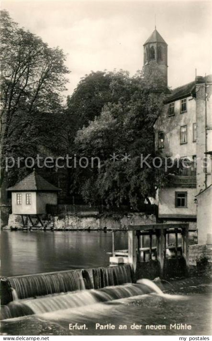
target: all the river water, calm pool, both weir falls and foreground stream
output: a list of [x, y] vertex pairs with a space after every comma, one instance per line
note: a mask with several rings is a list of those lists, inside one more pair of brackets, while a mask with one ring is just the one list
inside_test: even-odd
[[[57, 241], [57, 233], [4, 232], [8, 268], [4, 265], [2, 274], [19, 275], [9, 279], [13, 301], [1, 309], [4, 335], [211, 335], [208, 279], [133, 284], [128, 265], [102, 267], [108, 265], [110, 233], [57, 232]], [[125, 242], [126, 234], [120, 233], [118, 247], [126, 247]], [[76, 268], [75, 262], [84, 270], [67, 271]], [[47, 268], [63, 271], [33, 274]], [[192, 329], [183, 329], [185, 324]]]

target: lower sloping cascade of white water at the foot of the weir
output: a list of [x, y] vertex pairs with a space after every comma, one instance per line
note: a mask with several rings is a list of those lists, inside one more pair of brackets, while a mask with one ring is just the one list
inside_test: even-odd
[[43, 314], [65, 309], [76, 309], [82, 306], [91, 306], [99, 302], [108, 302], [121, 298], [149, 294], [151, 292], [151, 287], [148, 287], [146, 284], [127, 283], [97, 290], [82, 290], [74, 293], [14, 301], [4, 306], [5, 308], [1, 311], [1, 314], [2, 319], [30, 314]]

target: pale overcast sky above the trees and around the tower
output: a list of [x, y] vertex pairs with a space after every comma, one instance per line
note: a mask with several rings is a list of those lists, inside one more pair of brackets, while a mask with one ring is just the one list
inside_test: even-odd
[[67, 54], [67, 94], [91, 70], [143, 66], [143, 44], [154, 30], [168, 44], [168, 84], [211, 73], [211, 1], [1, 1], [21, 27]]

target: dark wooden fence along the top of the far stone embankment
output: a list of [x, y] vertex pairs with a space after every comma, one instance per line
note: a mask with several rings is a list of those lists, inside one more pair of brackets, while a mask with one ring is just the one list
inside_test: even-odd
[[[56, 215], [61, 213], [78, 213], [78, 212], [98, 212], [98, 213], [130, 213], [135, 212], [129, 206], [92, 206], [92, 205], [46, 205], [46, 211], [48, 214]], [[139, 212], [145, 212], [147, 214], [156, 214], [157, 205], [143, 204], [139, 208]]]

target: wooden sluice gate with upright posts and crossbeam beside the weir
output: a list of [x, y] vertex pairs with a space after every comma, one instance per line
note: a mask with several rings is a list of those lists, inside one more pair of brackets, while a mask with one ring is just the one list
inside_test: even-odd
[[186, 276], [188, 228], [188, 223], [129, 225], [128, 249], [117, 251], [113, 232], [110, 264], [130, 264], [135, 280]]

